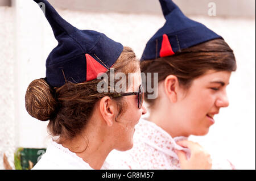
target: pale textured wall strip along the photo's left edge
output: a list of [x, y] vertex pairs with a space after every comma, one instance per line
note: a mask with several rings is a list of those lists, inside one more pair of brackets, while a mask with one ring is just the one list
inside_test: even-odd
[[13, 159], [16, 147], [13, 14], [14, 9], [0, 7], [0, 169], [3, 169], [3, 153]]

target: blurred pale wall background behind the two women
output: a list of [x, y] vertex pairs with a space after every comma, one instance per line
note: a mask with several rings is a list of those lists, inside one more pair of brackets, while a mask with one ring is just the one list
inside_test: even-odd
[[[147, 40], [165, 20], [158, 0], [49, 0], [64, 19], [82, 30], [105, 33], [141, 57]], [[237, 71], [207, 136], [191, 136], [211, 154], [237, 169], [255, 169], [255, 1], [176, 0], [189, 18], [224, 37], [234, 50]], [[31, 81], [46, 75], [46, 58], [57, 45], [51, 27], [32, 0], [0, 0], [0, 169], [5, 153], [46, 148], [48, 122], [28, 115], [24, 95]]]

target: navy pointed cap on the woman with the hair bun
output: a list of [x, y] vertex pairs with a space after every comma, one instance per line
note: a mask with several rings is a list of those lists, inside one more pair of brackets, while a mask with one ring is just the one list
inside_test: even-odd
[[46, 18], [59, 43], [46, 60], [45, 79], [50, 86], [61, 87], [65, 79], [74, 83], [90, 81], [117, 61], [122, 44], [97, 31], [79, 30], [61, 18], [48, 1], [34, 1], [44, 3]]

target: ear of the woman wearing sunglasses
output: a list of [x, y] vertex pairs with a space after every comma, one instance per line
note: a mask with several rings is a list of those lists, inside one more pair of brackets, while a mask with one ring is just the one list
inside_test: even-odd
[[100, 113], [109, 127], [112, 127], [117, 105], [109, 96], [104, 96], [100, 100]]

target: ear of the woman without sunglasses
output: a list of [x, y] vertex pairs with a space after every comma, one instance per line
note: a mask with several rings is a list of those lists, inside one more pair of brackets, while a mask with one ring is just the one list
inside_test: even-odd
[[164, 91], [172, 103], [177, 102], [177, 90], [179, 89], [179, 81], [175, 75], [168, 75], [164, 79]]

